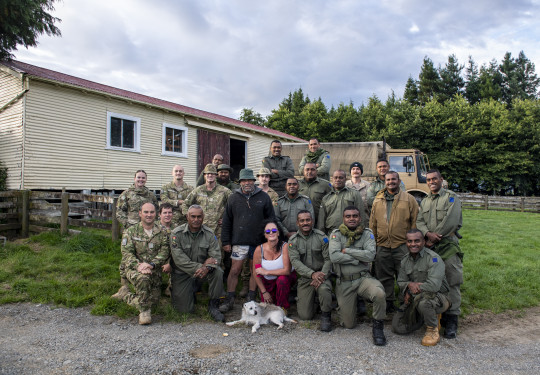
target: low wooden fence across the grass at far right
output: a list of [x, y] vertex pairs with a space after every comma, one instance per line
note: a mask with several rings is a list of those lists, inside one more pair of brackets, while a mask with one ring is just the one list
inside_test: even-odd
[[508, 197], [497, 195], [482, 195], [458, 193], [464, 209], [540, 212], [538, 197]]

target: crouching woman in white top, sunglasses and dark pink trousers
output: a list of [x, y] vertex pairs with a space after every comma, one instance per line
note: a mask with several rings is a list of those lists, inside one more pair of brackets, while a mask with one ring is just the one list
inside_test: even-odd
[[253, 274], [261, 291], [261, 301], [288, 309], [289, 292], [296, 282], [296, 272], [291, 271], [289, 248], [284, 235], [273, 219], [263, 222], [266, 242], [257, 246], [253, 254]]

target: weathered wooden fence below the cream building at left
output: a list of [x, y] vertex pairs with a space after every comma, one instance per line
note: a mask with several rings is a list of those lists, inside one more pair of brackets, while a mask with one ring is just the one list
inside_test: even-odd
[[[63, 234], [78, 231], [68, 225], [107, 229], [113, 240], [119, 238], [116, 219], [118, 198], [108, 195], [78, 194], [54, 191], [11, 190], [0, 192], [0, 232], [20, 230], [22, 237], [30, 232], [55, 230]], [[111, 222], [106, 222], [110, 220]]]

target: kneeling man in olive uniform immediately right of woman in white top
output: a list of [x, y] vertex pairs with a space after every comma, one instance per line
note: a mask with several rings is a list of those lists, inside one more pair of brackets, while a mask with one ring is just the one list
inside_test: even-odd
[[298, 212], [298, 232], [289, 239], [289, 258], [298, 274], [298, 316], [310, 320], [315, 315], [315, 295], [321, 306], [321, 331], [332, 330], [332, 263], [328, 255], [328, 237], [313, 228], [313, 213]]

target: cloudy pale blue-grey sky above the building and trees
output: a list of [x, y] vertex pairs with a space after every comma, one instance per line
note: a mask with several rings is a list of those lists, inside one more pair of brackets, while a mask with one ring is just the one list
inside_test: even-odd
[[302, 88], [327, 106], [403, 96], [424, 56], [540, 73], [540, 0], [63, 0], [62, 37], [17, 60], [238, 118]]

